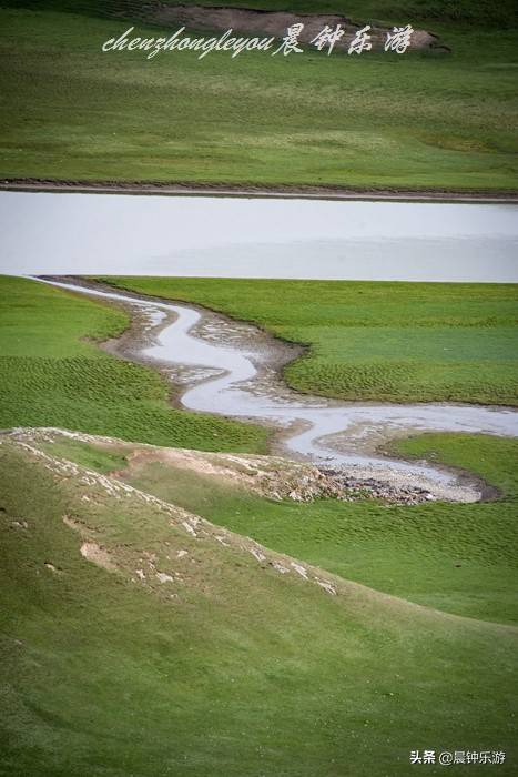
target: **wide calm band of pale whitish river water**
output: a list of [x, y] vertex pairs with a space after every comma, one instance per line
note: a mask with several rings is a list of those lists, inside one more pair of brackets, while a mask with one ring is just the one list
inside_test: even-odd
[[0, 192], [0, 272], [518, 282], [518, 205]]

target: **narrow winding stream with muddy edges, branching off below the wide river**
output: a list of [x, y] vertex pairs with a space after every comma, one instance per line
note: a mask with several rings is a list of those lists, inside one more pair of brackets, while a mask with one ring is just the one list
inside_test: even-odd
[[399, 483], [412, 480], [439, 497], [474, 501], [473, 484], [470, 488], [461, 485], [455, 474], [426, 462], [387, 458], [376, 454], [376, 448], [417, 432], [518, 436], [518, 411], [510, 408], [344, 403], [298, 394], [287, 389], [268, 364], [275, 349], [283, 346], [272, 337], [268, 356], [263, 333], [255, 331], [261, 343], [256, 345], [251, 337], [254, 327], [248, 324], [186, 304], [139, 299], [93, 284], [42, 282], [123, 304], [141, 327], [139, 340], [143, 344], [135, 361], [154, 362], [162, 371], [170, 367], [174, 383], [179, 382], [179, 369], [184, 371], [184, 407], [273, 424], [283, 430], [284, 455], [353, 467], [358, 477]]

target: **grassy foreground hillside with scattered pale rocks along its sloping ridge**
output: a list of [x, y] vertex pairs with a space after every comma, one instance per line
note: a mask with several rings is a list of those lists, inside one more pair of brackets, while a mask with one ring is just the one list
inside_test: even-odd
[[392, 777], [425, 747], [501, 749], [515, 774], [516, 629], [329, 596], [7, 440], [0, 457], [0, 774]]

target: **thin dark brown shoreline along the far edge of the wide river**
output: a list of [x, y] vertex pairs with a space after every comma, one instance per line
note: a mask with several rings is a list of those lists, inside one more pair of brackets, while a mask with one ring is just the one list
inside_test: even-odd
[[148, 194], [162, 196], [221, 196], [280, 200], [368, 200], [389, 202], [518, 203], [518, 191], [460, 191], [412, 189], [360, 189], [347, 186], [254, 184], [193, 184], [145, 181], [72, 181], [47, 179], [3, 179], [0, 191], [78, 194]]

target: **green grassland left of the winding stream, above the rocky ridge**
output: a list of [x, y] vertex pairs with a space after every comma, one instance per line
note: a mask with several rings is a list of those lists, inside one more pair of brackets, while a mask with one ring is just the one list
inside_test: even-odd
[[173, 410], [154, 371], [101, 351], [128, 315], [78, 294], [0, 276], [0, 427], [61, 426], [159, 445], [266, 450], [253, 424]]

